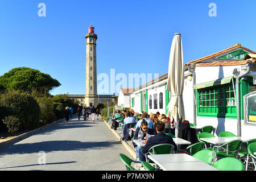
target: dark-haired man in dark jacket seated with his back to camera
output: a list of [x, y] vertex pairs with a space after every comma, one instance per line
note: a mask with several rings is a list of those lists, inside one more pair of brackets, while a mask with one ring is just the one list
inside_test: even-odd
[[159, 121], [156, 123], [156, 132], [157, 134], [154, 137], [150, 137], [147, 140], [147, 143], [145, 144], [144, 147], [141, 147], [139, 149], [139, 159], [140, 161], [146, 161], [146, 154], [148, 150], [152, 147], [155, 146], [156, 144], [162, 144], [162, 143], [170, 143], [174, 146], [174, 150], [177, 150], [177, 146], [172, 139], [172, 137], [167, 136], [164, 134], [164, 123]]

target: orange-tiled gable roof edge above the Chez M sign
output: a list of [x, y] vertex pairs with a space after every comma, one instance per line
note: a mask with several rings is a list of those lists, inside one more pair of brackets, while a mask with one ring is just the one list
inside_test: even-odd
[[[189, 61], [187, 64], [185, 64], [185, 66], [187, 66], [187, 65], [189, 65], [189, 64], [201, 63], [201, 62], [203, 62], [203, 61], [205, 61], [205, 60], [211, 59], [211, 58], [216, 57], [216, 56], [220, 56], [220, 55], [222, 55], [222, 54], [224, 54], [224, 53], [228, 53], [228, 52], [233, 51], [234, 49], [237, 49], [237, 48], [245, 49], [246, 51], [251, 52], [251, 53], [254, 53], [254, 54], [256, 53], [256, 52], [253, 52], [253, 51], [251, 51], [250, 49], [248, 49], [248, 48], [246, 48], [246, 47], [242, 47], [241, 44], [238, 43], [238, 44], [236, 44], [236, 45], [234, 45], [234, 46], [231, 46], [231, 47], [229, 47], [229, 48], [226, 48], [226, 49], [224, 49], [224, 50], [222, 50], [222, 51], [213, 53], [213, 54], [208, 55], [208, 56], [201, 57], [201, 58], [196, 59], [196, 60], [193, 60], [193, 61]], [[236, 61], [232, 61], [232, 62], [236, 62]], [[242, 62], [241, 62], [241, 63], [242, 63]], [[234, 63], [234, 65], [238, 65], [238, 64], [237, 64], [237, 63]], [[200, 65], [200, 66], [202, 66], [202, 65]], [[206, 64], [205, 66], [207, 66], [207, 64]], [[211, 65], [211, 66], [212, 66], [212, 65]], [[216, 66], [217, 66], [217, 65], [216, 65]]]

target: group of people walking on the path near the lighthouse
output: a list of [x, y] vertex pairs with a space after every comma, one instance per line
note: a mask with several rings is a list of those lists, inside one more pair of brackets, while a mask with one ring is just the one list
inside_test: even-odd
[[[88, 121], [89, 115], [91, 114], [93, 122], [95, 121], [95, 118], [97, 120], [100, 120], [100, 116], [101, 116], [100, 110], [96, 109], [94, 106], [92, 106], [92, 108], [78, 107], [76, 114], [77, 114], [77, 118], [79, 119], [79, 121], [80, 121], [81, 114], [84, 118], [84, 121]], [[68, 106], [65, 107], [64, 117], [65, 117], [66, 121], [69, 121], [70, 118], [73, 118], [73, 108], [72, 107], [68, 107]]]

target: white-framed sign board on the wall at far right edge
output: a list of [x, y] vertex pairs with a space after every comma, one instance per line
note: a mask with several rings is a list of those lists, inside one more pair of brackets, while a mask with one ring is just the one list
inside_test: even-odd
[[256, 125], [256, 91], [243, 96], [245, 124]]

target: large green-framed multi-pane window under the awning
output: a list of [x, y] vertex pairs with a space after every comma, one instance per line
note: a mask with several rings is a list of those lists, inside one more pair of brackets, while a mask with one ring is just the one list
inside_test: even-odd
[[[234, 85], [236, 86], [236, 85]], [[197, 115], [236, 117], [237, 108], [233, 84], [217, 85], [197, 90]]]

